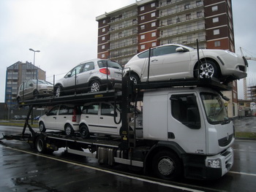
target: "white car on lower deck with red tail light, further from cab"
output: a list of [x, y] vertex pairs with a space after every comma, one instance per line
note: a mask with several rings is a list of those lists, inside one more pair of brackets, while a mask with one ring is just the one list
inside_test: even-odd
[[79, 130], [81, 109], [72, 104], [61, 104], [53, 107], [38, 120], [39, 131], [45, 132], [46, 129], [57, 129], [65, 131], [67, 135], [74, 134]]

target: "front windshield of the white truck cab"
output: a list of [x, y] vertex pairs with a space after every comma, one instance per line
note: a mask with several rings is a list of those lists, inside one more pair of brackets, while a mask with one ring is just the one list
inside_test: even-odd
[[221, 96], [214, 93], [201, 93], [201, 99], [206, 111], [208, 123], [230, 123], [230, 119], [227, 117], [227, 110]]

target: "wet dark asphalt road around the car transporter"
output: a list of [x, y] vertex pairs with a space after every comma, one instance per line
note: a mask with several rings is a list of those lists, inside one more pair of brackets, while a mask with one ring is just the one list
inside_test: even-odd
[[[236, 130], [255, 131], [256, 118], [238, 119], [234, 124]], [[20, 130], [0, 126], [0, 135]], [[234, 166], [221, 179], [172, 183], [143, 177], [124, 166], [99, 166], [93, 158], [67, 155], [64, 149], [42, 155], [34, 153], [26, 143], [3, 140], [0, 191], [255, 191], [256, 142], [236, 140], [233, 148]], [[126, 170], [129, 175], [122, 173]]]

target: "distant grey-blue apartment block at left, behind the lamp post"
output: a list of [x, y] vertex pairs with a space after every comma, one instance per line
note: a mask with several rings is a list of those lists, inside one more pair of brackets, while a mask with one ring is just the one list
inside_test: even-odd
[[7, 67], [6, 72], [6, 85], [5, 85], [5, 104], [8, 107], [13, 107], [17, 104], [16, 96], [18, 87], [24, 80], [39, 79], [45, 80], [45, 71], [39, 69], [37, 66], [26, 61], [16, 62], [11, 66]]

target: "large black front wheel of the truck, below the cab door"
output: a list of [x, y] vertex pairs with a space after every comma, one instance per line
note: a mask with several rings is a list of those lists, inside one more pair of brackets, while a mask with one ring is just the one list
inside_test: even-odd
[[175, 180], [182, 175], [181, 160], [170, 151], [160, 151], [153, 158], [153, 171], [164, 180]]

